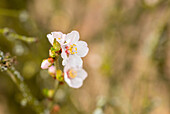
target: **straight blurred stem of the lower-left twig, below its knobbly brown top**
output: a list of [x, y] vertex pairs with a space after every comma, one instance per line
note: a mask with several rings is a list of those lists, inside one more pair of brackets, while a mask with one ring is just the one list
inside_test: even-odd
[[21, 91], [24, 99], [26, 99], [27, 103], [35, 110], [38, 114], [43, 114], [44, 108], [39, 103], [39, 101], [31, 94], [30, 89], [24, 82], [23, 77], [20, 75], [18, 71], [15, 70], [14, 67], [11, 67], [7, 70], [7, 73], [11, 77], [12, 81], [17, 85], [19, 90]]

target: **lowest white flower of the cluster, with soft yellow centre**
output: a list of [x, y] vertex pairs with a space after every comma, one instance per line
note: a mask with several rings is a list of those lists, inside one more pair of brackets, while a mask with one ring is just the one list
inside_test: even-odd
[[82, 68], [82, 60], [78, 56], [69, 56], [64, 67], [64, 80], [72, 88], [80, 88], [87, 77], [87, 72]]

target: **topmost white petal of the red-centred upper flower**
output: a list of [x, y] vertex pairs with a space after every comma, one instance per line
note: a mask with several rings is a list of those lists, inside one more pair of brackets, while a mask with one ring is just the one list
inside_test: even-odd
[[66, 42], [70, 45], [75, 44], [79, 40], [79, 32], [72, 31], [66, 35]]

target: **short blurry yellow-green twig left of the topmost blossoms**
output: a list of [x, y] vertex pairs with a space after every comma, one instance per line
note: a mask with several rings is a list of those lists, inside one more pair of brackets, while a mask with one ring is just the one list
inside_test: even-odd
[[37, 38], [35, 38], [35, 37], [26, 37], [26, 36], [19, 35], [19, 34], [13, 32], [9, 28], [0, 29], [0, 34], [3, 34], [5, 37], [7, 37], [9, 39], [22, 40], [22, 41], [25, 41], [27, 43], [33, 43], [33, 42], [37, 41]]

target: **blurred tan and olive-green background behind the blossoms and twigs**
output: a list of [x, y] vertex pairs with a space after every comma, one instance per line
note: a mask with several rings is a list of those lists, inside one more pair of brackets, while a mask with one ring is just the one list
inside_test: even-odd
[[[52, 31], [80, 32], [90, 51], [80, 89], [64, 84], [56, 114], [170, 114], [169, 0], [0, 0], [0, 28], [36, 43], [7, 39], [0, 50], [16, 56], [16, 69], [37, 99], [54, 79], [41, 70]], [[0, 72], [0, 114], [34, 114], [6, 72]]]

